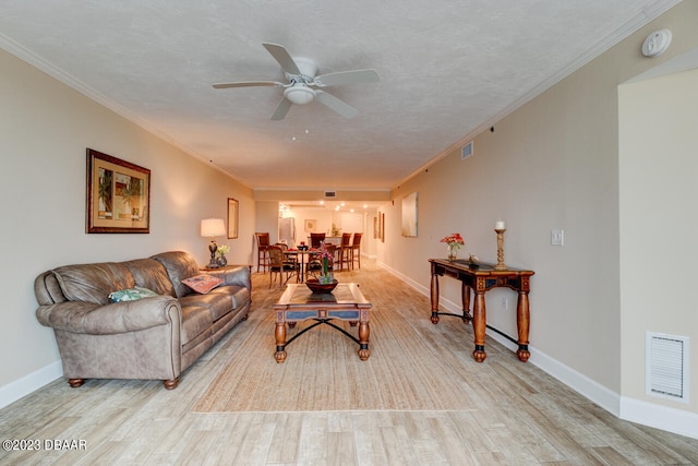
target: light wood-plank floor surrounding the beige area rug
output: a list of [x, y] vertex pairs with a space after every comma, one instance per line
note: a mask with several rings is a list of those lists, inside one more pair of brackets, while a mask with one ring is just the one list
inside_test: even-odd
[[[371, 261], [338, 278], [361, 282], [366, 271], [375, 279]], [[268, 279], [253, 275], [252, 312], [278, 295]], [[407, 287], [385, 292], [402, 299], [400, 306], [423, 308], [429, 319], [428, 297]], [[0, 464], [698, 464], [698, 440], [622, 421], [532, 365], [505, 362], [516, 358], [490, 339], [484, 363], [497, 378], [473, 384], [478, 409], [192, 413], [226, 363], [221, 349], [244, 332], [241, 325], [190, 368], [177, 390], [158, 381], [104, 380], [70, 389], [59, 380], [1, 409], [3, 440], [38, 440], [40, 447], [2, 451]], [[51, 440], [84, 441], [86, 449], [47, 449]]]

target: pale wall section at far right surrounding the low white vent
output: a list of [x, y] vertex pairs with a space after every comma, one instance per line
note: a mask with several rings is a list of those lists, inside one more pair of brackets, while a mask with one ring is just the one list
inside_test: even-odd
[[645, 394], [646, 332], [689, 338], [689, 409], [698, 413], [698, 70], [621, 87], [623, 394]]

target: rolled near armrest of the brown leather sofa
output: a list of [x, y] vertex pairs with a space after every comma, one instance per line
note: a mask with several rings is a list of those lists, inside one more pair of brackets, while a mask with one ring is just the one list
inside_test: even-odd
[[181, 307], [177, 299], [156, 296], [137, 301], [100, 306], [68, 301], [40, 306], [36, 318], [41, 325], [72, 333], [111, 335], [158, 325], [180, 325]]

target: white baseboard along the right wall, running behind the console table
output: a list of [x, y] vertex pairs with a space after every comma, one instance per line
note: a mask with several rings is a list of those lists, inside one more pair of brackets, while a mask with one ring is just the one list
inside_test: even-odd
[[[429, 287], [410, 279], [383, 263], [380, 263], [378, 265], [422, 295], [430, 296], [431, 289]], [[462, 312], [460, 302], [456, 303], [441, 297], [438, 303], [449, 312], [457, 314]], [[488, 336], [513, 351], [518, 349], [518, 346], [515, 343], [496, 332], [488, 331]], [[550, 355], [537, 349], [534, 346], [529, 345], [529, 350], [531, 351], [531, 357], [528, 360], [529, 363], [539, 367], [541, 370], [547, 372], [565, 385], [573, 389], [575, 392], [589, 398], [591, 402], [601, 406], [617, 418], [665, 430], [667, 432], [677, 433], [679, 435], [698, 439], [698, 415], [681, 409], [655, 405], [653, 403], [622, 397], [619, 394], [609, 390], [604, 385], [601, 385], [585, 374], [565, 366]]]

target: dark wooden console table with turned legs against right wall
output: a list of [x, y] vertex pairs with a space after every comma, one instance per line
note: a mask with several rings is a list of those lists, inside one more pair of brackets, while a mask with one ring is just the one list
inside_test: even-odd
[[[532, 271], [509, 267], [504, 271], [494, 270], [494, 265], [481, 263], [472, 265], [467, 260], [448, 261], [446, 259], [430, 259], [432, 267], [431, 300], [432, 323], [438, 323], [438, 315], [456, 315], [447, 312], [438, 312], [438, 277], [449, 276], [461, 283], [461, 300], [464, 322], [472, 321], [476, 349], [472, 357], [478, 362], [484, 361], [488, 355], [484, 351], [484, 334], [486, 328], [486, 311], [484, 294], [492, 288], [508, 287], [518, 292], [516, 304], [516, 324], [518, 328], [519, 346], [516, 351], [519, 360], [526, 362], [531, 356], [528, 350], [528, 331], [530, 309], [528, 294], [531, 289]], [[470, 315], [470, 289], [474, 294], [472, 316]]]

